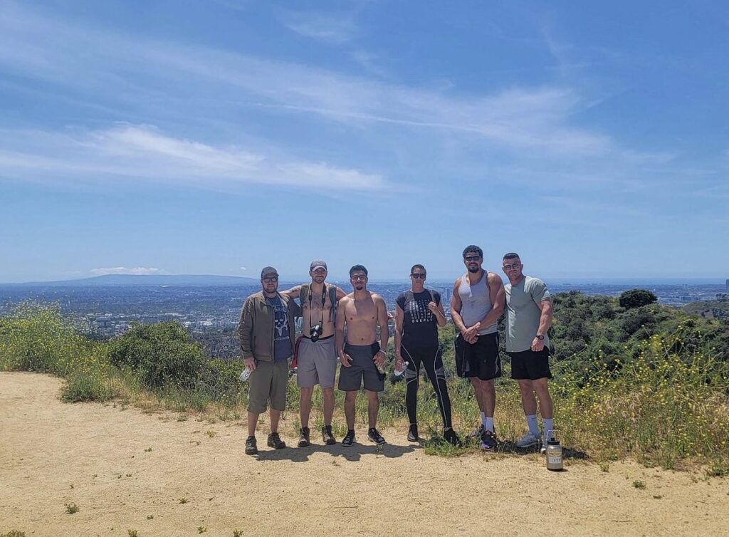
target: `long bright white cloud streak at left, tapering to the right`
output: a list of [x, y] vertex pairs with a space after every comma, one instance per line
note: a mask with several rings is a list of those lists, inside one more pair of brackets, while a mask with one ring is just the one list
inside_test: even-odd
[[150, 125], [122, 124], [73, 134], [0, 131], [0, 146], [6, 148], [0, 150], [0, 174], [15, 179], [96, 181], [99, 176], [112, 176], [203, 186], [227, 182], [335, 190], [388, 186], [378, 174], [174, 138]]

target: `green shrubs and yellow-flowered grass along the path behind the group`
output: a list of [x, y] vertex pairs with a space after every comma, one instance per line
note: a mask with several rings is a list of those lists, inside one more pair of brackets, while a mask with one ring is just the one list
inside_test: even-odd
[[[551, 382], [556, 425], [574, 456], [609, 461], [633, 457], [666, 468], [696, 463], [722, 475], [729, 471], [729, 324], [677, 309], [647, 304], [621, 308], [617, 299], [558, 294]], [[453, 378], [453, 325], [440, 332], [453, 421], [466, 433], [478, 421], [468, 382]], [[392, 352], [390, 352], [390, 357]], [[504, 357], [506, 358], [506, 357]], [[206, 412], [215, 419], [245, 414], [247, 385], [238, 381], [241, 364], [207, 358], [199, 344], [174, 322], [137, 326], [108, 342], [74, 333], [55, 306], [23, 305], [0, 318], [0, 370], [46, 371], [67, 379], [66, 401], [117, 398], [147, 408]], [[525, 430], [518, 387], [496, 382], [496, 432], [504, 451]], [[314, 408], [321, 409], [315, 391]], [[384, 426], [403, 434], [405, 386], [389, 382], [382, 395]], [[298, 393], [289, 382], [288, 422], [297, 429]], [[366, 401], [357, 417], [366, 419]], [[343, 398], [337, 394], [335, 432], [342, 436]], [[437, 434], [440, 418], [428, 382], [418, 401], [421, 431]], [[312, 416], [312, 427], [321, 415]], [[430, 452], [458, 455], [462, 450], [434, 443]]]

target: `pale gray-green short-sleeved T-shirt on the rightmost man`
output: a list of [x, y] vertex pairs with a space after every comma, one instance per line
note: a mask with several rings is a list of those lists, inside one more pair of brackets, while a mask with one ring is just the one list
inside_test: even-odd
[[[522, 352], [531, 349], [531, 341], [539, 330], [542, 309], [539, 303], [550, 300], [545, 282], [539, 278], [525, 276], [517, 285], [507, 283], [506, 290], [506, 349], [507, 352]], [[549, 336], [545, 334], [545, 347], [549, 347]]]

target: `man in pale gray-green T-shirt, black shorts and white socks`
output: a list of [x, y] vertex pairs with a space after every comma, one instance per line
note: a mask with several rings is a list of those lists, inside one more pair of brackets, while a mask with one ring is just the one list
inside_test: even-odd
[[[517, 447], [532, 447], [547, 440], [554, 430], [554, 409], [547, 387], [552, 378], [549, 368], [550, 341], [547, 331], [552, 323], [552, 299], [545, 282], [524, 276], [521, 259], [514, 252], [504, 255], [504, 274], [509, 283], [506, 292], [506, 350], [511, 357], [511, 378], [519, 382], [521, 406], [529, 431], [516, 442]], [[539, 433], [537, 399], [544, 433]], [[541, 439], [540, 439], [541, 436]]]

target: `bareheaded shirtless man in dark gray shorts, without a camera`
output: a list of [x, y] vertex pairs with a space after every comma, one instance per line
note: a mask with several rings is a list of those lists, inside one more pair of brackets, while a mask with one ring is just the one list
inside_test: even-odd
[[[367, 393], [367, 437], [375, 444], [383, 444], [377, 430], [377, 412], [380, 409], [378, 392], [385, 389], [385, 365], [387, 349], [387, 307], [383, 298], [367, 290], [367, 269], [355, 265], [349, 269], [349, 281], [354, 288], [339, 301], [337, 316], [337, 354], [342, 368], [339, 371], [339, 389], [346, 392], [344, 415], [347, 419], [347, 434], [343, 446], [354, 442], [354, 403], [362, 387]], [[347, 342], [344, 343], [344, 327], [347, 327]], [[377, 327], [380, 327], [380, 342], [377, 342]]]

